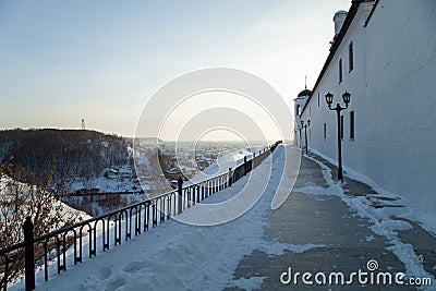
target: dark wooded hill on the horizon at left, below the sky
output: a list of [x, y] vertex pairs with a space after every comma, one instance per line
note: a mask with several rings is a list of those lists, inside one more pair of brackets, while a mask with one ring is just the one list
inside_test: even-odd
[[[52, 170], [53, 180], [92, 179], [105, 168], [130, 161], [129, 141], [114, 134], [85, 130], [0, 131], [0, 161], [10, 160], [40, 179]], [[28, 178], [28, 177], [27, 177]]]

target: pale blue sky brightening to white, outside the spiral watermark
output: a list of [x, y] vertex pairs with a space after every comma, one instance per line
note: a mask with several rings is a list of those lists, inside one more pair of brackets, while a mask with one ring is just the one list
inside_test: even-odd
[[[134, 136], [160, 87], [216, 66], [258, 76], [292, 108], [305, 76], [312, 88], [328, 56], [335, 12], [350, 5], [351, 0], [0, 1], [0, 129], [80, 129], [85, 119], [86, 129]], [[254, 107], [245, 110], [262, 116]]]

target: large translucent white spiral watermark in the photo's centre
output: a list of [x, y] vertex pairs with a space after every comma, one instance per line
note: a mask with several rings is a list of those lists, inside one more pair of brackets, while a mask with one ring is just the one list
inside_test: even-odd
[[[257, 146], [268, 146], [275, 142], [271, 136], [276, 141], [290, 140], [292, 120], [289, 106], [277, 90], [251, 73], [228, 68], [210, 68], [183, 74], [165, 84], [148, 98], [138, 118], [133, 147], [135, 170], [140, 183], [145, 189], [149, 186], [149, 178], [153, 177], [153, 182], [165, 186], [165, 170], [156, 169], [156, 166], [161, 165], [159, 153], [157, 153], [161, 140], [170, 140], [175, 144], [177, 162], [172, 162], [173, 168], [178, 168], [177, 170], [186, 178], [189, 174], [185, 174], [183, 169], [197, 167], [192, 160], [195, 160], [198, 154], [196, 153], [197, 145], [206, 141], [206, 137], [214, 136], [214, 134], [219, 136], [223, 133], [228, 136], [235, 136], [244, 144], [245, 148], [249, 148], [246, 155], [253, 156], [263, 150], [261, 147], [256, 148], [253, 141], [257, 142]], [[150, 149], [144, 147], [144, 137], [148, 137], [146, 140], [148, 146], [150, 140], [153, 141], [155, 153], [150, 154]], [[186, 146], [186, 141], [193, 142], [194, 146]], [[153, 160], [144, 158], [143, 154], [146, 150]], [[292, 170], [298, 171], [301, 156], [291, 158], [294, 161]], [[182, 165], [183, 160], [187, 160], [187, 163]], [[230, 159], [217, 165], [218, 169], [213, 173], [202, 172], [189, 182], [197, 183], [216, 174], [228, 172], [229, 168], [234, 169], [239, 162], [238, 159]], [[253, 181], [250, 175], [244, 189], [250, 187], [251, 183], [256, 183], [255, 186], [250, 187], [250, 191], [243, 189], [232, 198], [216, 204], [197, 203], [196, 207], [203, 209], [198, 209], [196, 213], [207, 215], [190, 216], [185, 214], [174, 216], [173, 219], [190, 225], [214, 226], [226, 223], [243, 215], [261, 198], [270, 181], [271, 160], [268, 159], [264, 163], [268, 165], [268, 173], [256, 181]], [[288, 179], [282, 187], [279, 186], [275, 190], [271, 202], [272, 209], [278, 208], [286, 201], [296, 178], [289, 169], [287, 173], [286, 167], [289, 168], [291, 163], [284, 162], [284, 165], [281, 172], [277, 172], [277, 170], [275, 172], [275, 179], [282, 181], [284, 175]], [[150, 174], [152, 166], [158, 172]], [[289, 173], [290, 171], [291, 173]], [[222, 181], [222, 183], [226, 182]], [[160, 206], [157, 205], [157, 207]], [[166, 208], [160, 210], [166, 211]]]

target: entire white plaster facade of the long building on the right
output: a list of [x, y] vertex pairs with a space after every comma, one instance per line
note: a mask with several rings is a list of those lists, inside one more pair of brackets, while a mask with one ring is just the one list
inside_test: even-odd
[[337, 117], [325, 95], [343, 106], [346, 90], [343, 166], [436, 215], [436, 1], [353, 1], [301, 114], [310, 149], [335, 160]]

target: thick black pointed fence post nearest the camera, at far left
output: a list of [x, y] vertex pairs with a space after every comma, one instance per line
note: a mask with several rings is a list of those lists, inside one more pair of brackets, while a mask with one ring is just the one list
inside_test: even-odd
[[24, 268], [26, 291], [35, 290], [35, 246], [34, 223], [29, 216], [23, 223], [24, 232]]

